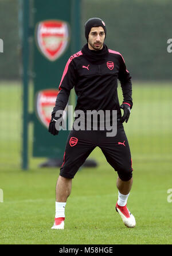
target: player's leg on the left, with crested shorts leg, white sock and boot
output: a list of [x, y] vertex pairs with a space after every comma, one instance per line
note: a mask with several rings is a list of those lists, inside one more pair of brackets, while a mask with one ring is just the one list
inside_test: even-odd
[[64, 163], [56, 185], [56, 216], [52, 229], [64, 229], [65, 206], [71, 194], [72, 179], [95, 148], [92, 131], [71, 131], [64, 153]]

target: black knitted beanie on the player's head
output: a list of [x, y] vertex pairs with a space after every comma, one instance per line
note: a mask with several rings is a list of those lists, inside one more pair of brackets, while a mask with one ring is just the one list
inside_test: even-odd
[[89, 20], [85, 22], [85, 37], [87, 39], [87, 42], [88, 42], [88, 35], [92, 27], [102, 27], [104, 29], [104, 33], [106, 36], [106, 28], [105, 28], [104, 21], [101, 20], [101, 18], [89, 18]]

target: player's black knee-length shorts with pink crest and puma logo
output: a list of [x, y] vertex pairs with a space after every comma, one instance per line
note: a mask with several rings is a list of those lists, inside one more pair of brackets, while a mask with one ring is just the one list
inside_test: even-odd
[[118, 172], [120, 179], [127, 181], [132, 178], [130, 147], [123, 126], [118, 127], [115, 137], [106, 137], [106, 131], [72, 130], [65, 147], [60, 175], [73, 178], [96, 146], [99, 146], [108, 163]]

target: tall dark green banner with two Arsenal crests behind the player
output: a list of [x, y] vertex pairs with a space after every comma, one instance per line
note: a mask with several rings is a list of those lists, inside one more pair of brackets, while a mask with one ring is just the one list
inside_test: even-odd
[[[34, 100], [33, 113], [28, 119], [33, 121], [33, 157], [63, 159], [64, 156], [69, 135], [69, 129], [64, 126], [71, 126], [73, 121], [68, 115], [68, 104], [63, 112], [60, 135], [52, 136], [48, 127], [65, 65], [69, 57], [80, 50], [80, 3], [80, 0], [33, 0], [30, 5], [33, 17], [29, 19], [28, 33], [33, 33], [34, 40], [29, 42], [28, 73], [32, 74]], [[74, 90], [69, 102], [75, 106]], [[73, 138], [71, 145], [76, 143]]]

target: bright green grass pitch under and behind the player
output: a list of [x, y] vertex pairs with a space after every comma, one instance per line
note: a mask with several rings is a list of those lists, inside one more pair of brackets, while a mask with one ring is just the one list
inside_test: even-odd
[[50, 227], [59, 168], [38, 168], [45, 159], [30, 156], [29, 171], [21, 170], [21, 85], [0, 84], [0, 188], [4, 193], [0, 244], [172, 243], [172, 203], [167, 202], [167, 190], [172, 188], [172, 87], [134, 83], [133, 88], [134, 107], [124, 126], [134, 168], [128, 208], [136, 227], [126, 228], [116, 213], [117, 174], [96, 148], [90, 157], [99, 167], [77, 172], [65, 210], [65, 229], [56, 231]]

